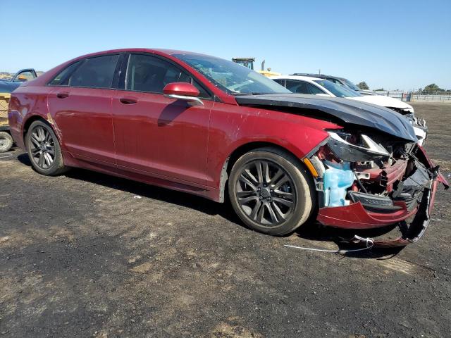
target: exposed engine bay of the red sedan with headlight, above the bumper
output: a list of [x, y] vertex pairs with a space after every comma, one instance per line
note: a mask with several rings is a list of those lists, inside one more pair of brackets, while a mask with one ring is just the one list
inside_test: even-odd
[[372, 134], [330, 131], [328, 142], [310, 158], [319, 173], [321, 206], [347, 206], [360, 201], [368, 211], [388, 213], [416, 207], [425, 187], [438, 173], [416, 158], [416, 145], [384, 142]]

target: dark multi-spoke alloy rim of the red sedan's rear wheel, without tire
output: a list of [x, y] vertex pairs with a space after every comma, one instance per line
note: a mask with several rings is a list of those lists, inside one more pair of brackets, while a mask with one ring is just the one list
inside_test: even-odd
[[38, 125], [33, 128], [30, 136], [30, 151], [32, 161], [41, 168], [49, 169], [55, 161], [55, 142], [49, 130]]

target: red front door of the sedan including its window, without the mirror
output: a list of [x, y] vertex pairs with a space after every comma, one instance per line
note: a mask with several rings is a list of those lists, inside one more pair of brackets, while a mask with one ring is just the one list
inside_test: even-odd
[[[152, 54], [130, 54], [123, 90], [113, 98], [116, 161], [119, 168], [206, 184], [211, 94], [183, 68]], [[163, 96], [171, 82], [191, 82], [204, 106]]]

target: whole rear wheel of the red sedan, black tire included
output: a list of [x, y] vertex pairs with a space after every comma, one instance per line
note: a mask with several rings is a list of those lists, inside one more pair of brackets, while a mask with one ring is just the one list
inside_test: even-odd
[[[63, 162], [58, 137], [46, 121], [36, 120], [30, 125], [25, 135], [25, 145], [30, 162], [39, 174], [55, 176], [68, 170]], [[49, 160], [49, 156], [53, 161]]]

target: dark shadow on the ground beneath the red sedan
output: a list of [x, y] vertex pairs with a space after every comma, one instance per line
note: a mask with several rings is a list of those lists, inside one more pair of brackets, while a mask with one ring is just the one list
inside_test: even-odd
[[[18, 161], [31, 167], [30, 158], [27, 154], [20, 154]], [[192, 194], [187, 194], [185, 192], [177, 192], [171, 189], [166, 189], [162, 187], [156, 187], [149, 184], [127, 180], [125, 178], [106, 175], [103, 173], [96, 173], [91, 170], [85, 170], [80, 168], [73, 168], [68, 171], [66, 177], [70, 177], [74, 180], [81, 180], [85, 182], [90, 182], [92, 184], [100, 184], [104, 187], [109, 187], [111, 189], [119, 189], [123, 192], [128, 192], [130, 194], [135, 194], [148, 199], [158, 199], [159, 201], [164, 201], [171, 204], [176, 204], [178, 206], [184, 206], [186, 208], [192, 208], [193, 210], [206, 213], [207, 215], [220, 215], [226, 220], [245, 227], [240, 218], [237, 217], [235, 211], [233, 211], [232, 206], [228, 199], [226, 203], [219, 204], [208, 199], [204, 199], [200, 196], [194, 196]], [[226, 192], [226, 196], [228, 193]], [[302, 239], [319, 241], [319, 242], [333, 242], [337, 244], [340, 250], [354, 250], [362, 249], [362, 245], [356, 245], [349, 242], [355, 234], [360, 237], [378, 237], [383, 234], [387, 234], [395, 230], [397, 225], [391, 225], [389, 227], [383, 227], [372, 230], [346, 230], [338, 229], [334, 227], [326, 227], [317, 222], [314, 218], [309, 219], [304, 225], [299, 227], [294, 233], [288, 234], [288, 236], [297, 236]], [[403, 248], [371, 248], [371, 250], [364, 251], [352, 251], [347, 253], [342, 253], [343, 256], [355, 257], [355, 258], [381, 258], [388, 255], [395, 256]]]

